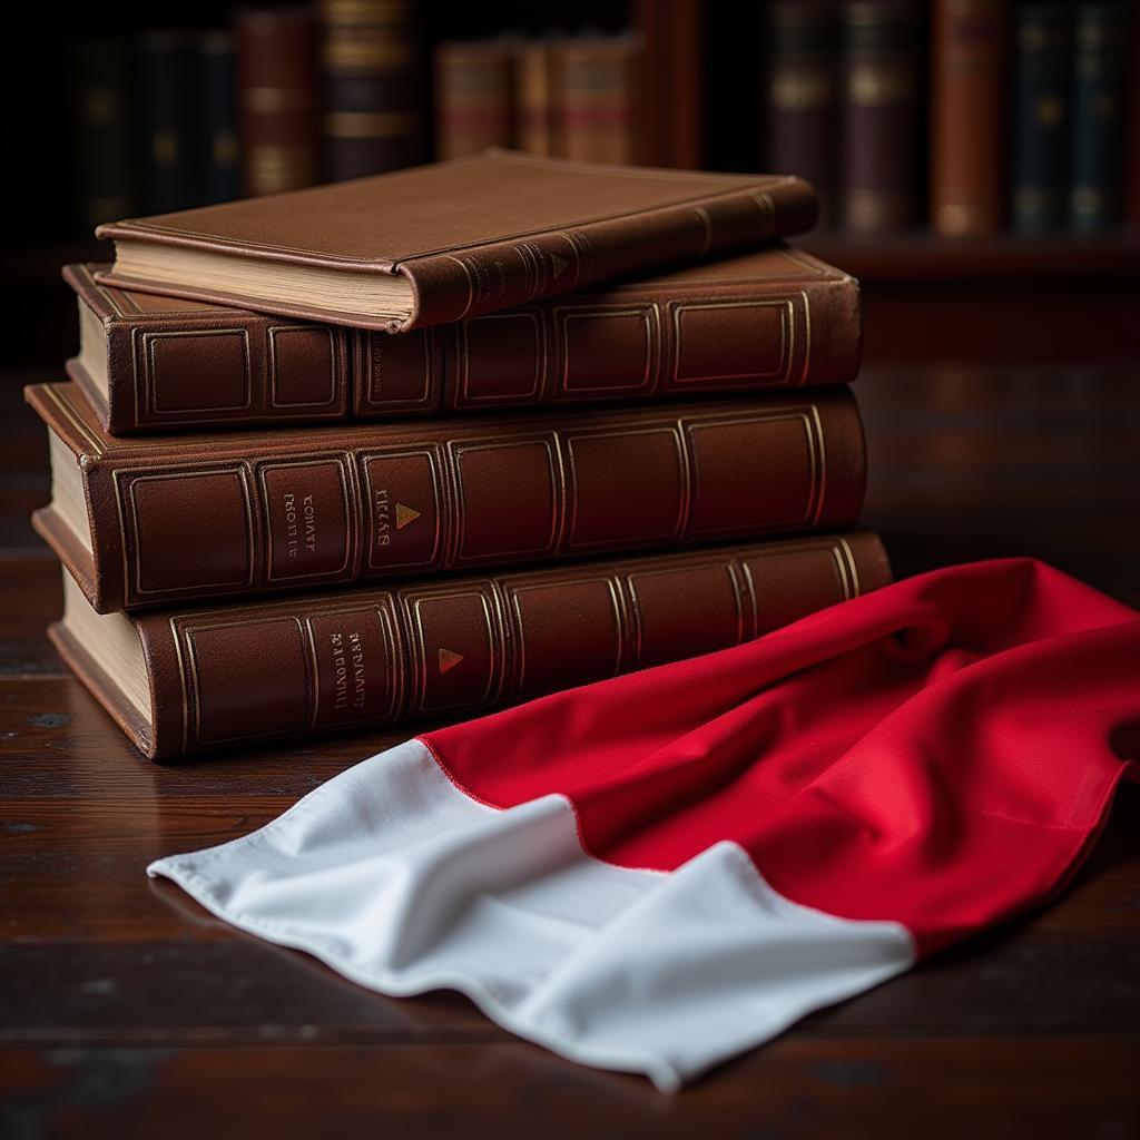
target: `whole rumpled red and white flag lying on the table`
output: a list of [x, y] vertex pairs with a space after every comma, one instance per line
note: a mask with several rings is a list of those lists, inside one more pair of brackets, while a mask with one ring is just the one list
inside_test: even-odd
[[149, 873], [676, 1089], [1040, 904], [1140, 752], [1140, 616], [1029, 560], [426, 733]]

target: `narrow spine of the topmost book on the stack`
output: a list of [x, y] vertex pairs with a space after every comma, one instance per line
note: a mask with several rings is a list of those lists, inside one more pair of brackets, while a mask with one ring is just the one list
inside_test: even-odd
[[811, 229], [816, 211], [812, 187], [788, 177], [632, 218], [416, 258], [399, 269], [412, 282], [418, 310], [407, 320], [390, 321], [386, 331], [448, 324], [572, 293], [594, 282], [762, 245]]

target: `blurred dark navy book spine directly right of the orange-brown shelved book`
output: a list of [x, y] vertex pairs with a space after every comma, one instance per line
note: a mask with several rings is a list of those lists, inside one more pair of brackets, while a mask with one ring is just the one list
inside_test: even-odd
[[1072, 51], [1067, 0], [1017, 7], [1010, 214], [1018, 234], [1065, 228]]

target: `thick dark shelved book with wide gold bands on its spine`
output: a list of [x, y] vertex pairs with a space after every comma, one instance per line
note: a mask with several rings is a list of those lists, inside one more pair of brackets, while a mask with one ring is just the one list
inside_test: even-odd
[[422, 161], [414, 0], [321, 0], [325, 174], [334, 181]]

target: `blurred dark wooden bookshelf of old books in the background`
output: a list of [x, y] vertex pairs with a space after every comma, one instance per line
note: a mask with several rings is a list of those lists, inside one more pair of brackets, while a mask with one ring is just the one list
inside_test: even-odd
[[[156, 212], [490, 142], [809, 177], [825, 217], [803, 244], [860, 279], [872, 361], [1140, 359], [1134, 8], [172, 0], [62, 30], [25, 7], [3, 80], [24, 172], [5, 275], [14, 352], [72, 350], [58, 271], [106, 255], [89, 236], [100, 203]], [[236, 165], [204, 188], [195, 172], [219, 156]]]

